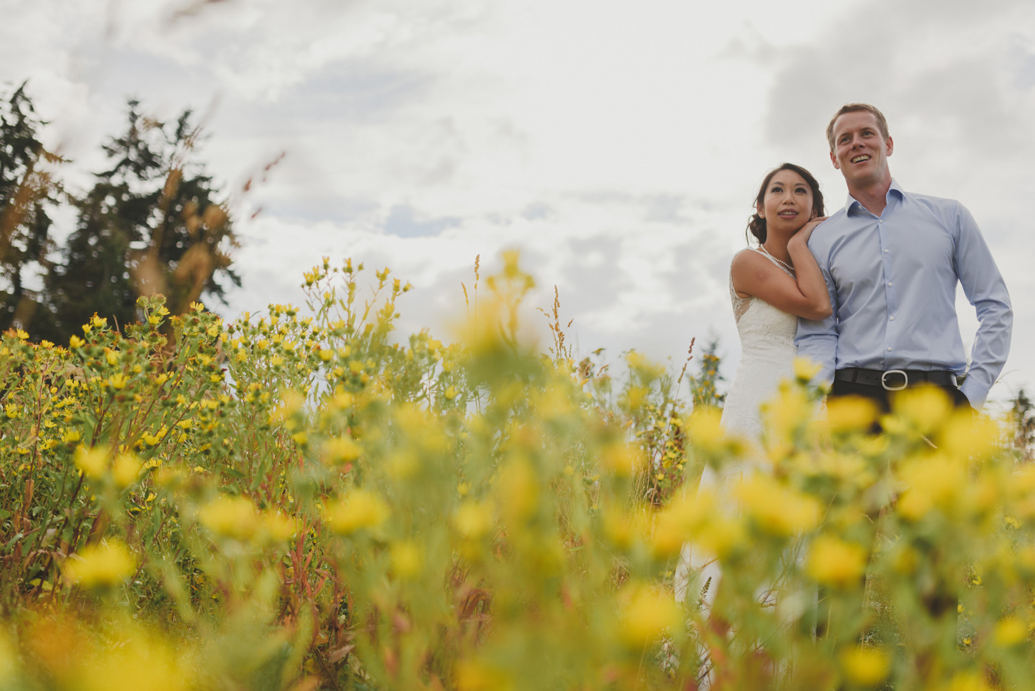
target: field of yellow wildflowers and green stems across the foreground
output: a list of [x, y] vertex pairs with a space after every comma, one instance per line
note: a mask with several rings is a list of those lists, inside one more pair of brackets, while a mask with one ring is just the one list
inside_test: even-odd
[[[714, 354], [687, 409], [685, 368], [575, 362], [557, 303], [525, 343], [516, 255], [449, 344], [366, 281], [3, 335], [0, 688], [1032, 685], [1035, 468], [995, 421], [917, 390], [878, 436], [861, 402], [812, 422], [802, 367], [731, 513], [694, 491], [747, 453]], [[723, 577], [677, 605], [687, 540]]]

